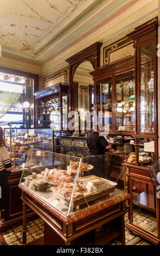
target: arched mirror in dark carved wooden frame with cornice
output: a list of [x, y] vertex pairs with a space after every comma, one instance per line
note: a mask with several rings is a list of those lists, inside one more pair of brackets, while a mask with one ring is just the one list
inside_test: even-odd
[[[92, 75], [90, 75], [89, 72], [94, 71], [95, 68], [100, 66], [101, 45], [101, 42], [95, 42], [93, 45], [88, 46], [84, 50], [66, 59], [66, 62], [69, 64], [69, 112], [82, 111], [91, 113], [96, 109], [96, 83], [93, 82]], [[81, 119], [85, 122], [85, 115], [81, 116]], [[92, 121], [92, 115], [89, 119]], [[91, 124], [89, 124], [89, 126], [90, 125]], [[76, 129], [77, 128], [78, 127], [76, 127]]]

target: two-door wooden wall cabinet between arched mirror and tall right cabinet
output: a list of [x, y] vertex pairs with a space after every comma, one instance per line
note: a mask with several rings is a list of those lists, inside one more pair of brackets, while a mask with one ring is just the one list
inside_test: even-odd
[[97, 111], [107, 112], [109, 134], [135, 133], [135, 56], [91, 72], [97, 84]]

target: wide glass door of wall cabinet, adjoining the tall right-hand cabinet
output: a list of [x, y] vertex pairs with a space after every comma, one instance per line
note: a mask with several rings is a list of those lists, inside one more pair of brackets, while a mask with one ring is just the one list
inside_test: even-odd
[[135, 71], [116, 75], [116, 131], [135, 132]]

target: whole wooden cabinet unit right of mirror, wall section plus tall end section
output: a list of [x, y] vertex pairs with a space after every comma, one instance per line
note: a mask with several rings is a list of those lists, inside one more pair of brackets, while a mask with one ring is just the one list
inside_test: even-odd
[[[152, 159], [158, 156], [157, 22], [157, 18], [152, 19], [127, 35], [133, 40], [135, 56], [123, 58], [91, 72], [97, 87], [97, 111], [103, 110], [109, 113], [109, 135], [131, 135], [135, 140], [136, 163], [126, 163], [128, 192], [131, 194], [129, 223], [126, 226], [156, 245], [160, 241], [159, 200], [156, 198], [156, 188], [150, 178], [150, 165], [139, 162], [139, 150], [144, 150], [142, 144], [145, 142], [153, 141], [154, 148], [149, 150], [149, 153], [152, 154]], [[131, 82], [127, 84], [130, 79]], [[127, 106], [126, 99], [128, 99], [127, 103], [132, 103], [132, 106], [129, 107], [129, 104]], [[125, 113], [128, 115], [127, 118]], [[127, 123], [128, 127], [123, 128]], [[135, 184], [136, 191], [133, 191]], [[139, 192], [137, 192], [138, 186]], [[156, 214], [153, 216], [155, 227], [157, 222], [155, 231], [153, 231], [155, 227], [149, 228], [148, 223], [145, 223], [145, 228], [134, 223], [136, 207], [139, 211]]]

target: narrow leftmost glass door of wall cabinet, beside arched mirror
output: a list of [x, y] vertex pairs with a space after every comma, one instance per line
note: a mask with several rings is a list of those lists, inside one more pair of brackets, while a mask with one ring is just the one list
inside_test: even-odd
[[103, 124], [106, 130], [113, 130], [113, 97], [112, 97], [112, 77], [107, 77], [98, 81], [100, 90], [100, 100], [98, 109], [103, 113]]

